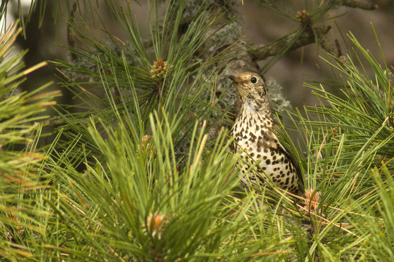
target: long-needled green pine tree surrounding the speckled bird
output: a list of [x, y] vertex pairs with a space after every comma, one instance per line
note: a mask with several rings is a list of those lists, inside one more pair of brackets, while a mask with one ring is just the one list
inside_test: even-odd
[[[103, 23], [78, 23], [81, 5], [67, 5], [70, 58], [53, 63], [79, 102], [54, 107], [49, 121], [37, 114], [58, 92], [12, 93], [42, 64], [20, 71], [23, 52], [3, 61], [1, 260], [390, 261], [392, 73], [353, 35], [357, 52], [342, 54], [319, 24], [338, 5], [368, 6], [328, 1], [291, 16], [274, 3], [264, 4], [300, 27], [265, 46], [242, 38], [235, 1], [154, 1], [149, 39], [128, 4], [106, 2], [127, 39]], [[107, 39], [95, 38], [97, 29]], [[1, 58], [16, 30], [3, 35]], [[320, 105], [293, 110], [269, 85], [278, 118], [292, 120], [286, 128], [301, 135], [298, 143], [286, 133], [280, 139], [301, 164], [306, 196], [244, 192], [237, 187], [242, 159], [228, 150], [237, 98], [227, 75], [264, 73], [311, 43], [331, 55], [339, 78], [329, 84], [339, 94], [326, 83], [308, 85]], [[360, 56], [367, 64], [356, 66]], [[38, 146], [45, 124], [59, 128], [51, 144]]]

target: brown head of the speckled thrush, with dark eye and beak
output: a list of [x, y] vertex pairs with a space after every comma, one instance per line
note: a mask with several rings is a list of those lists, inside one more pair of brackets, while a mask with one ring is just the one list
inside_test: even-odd
[[241, 104], [252, 107], [269, 107], [267, 88], [262, 77], [256, 73], [244, 72], [236, 76], [229, 76], [239, 94]]

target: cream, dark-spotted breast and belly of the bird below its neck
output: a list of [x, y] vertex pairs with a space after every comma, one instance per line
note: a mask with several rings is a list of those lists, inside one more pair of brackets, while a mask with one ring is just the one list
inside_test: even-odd
[[[272, 181], [277, 187], [289, 192], [298, 191], [296, 168], [292, 164], [286, 149], [279, 143], [276, 135], [270, 130], [273, 120], [262, 115], [245, 111], [239, 116], [231, 130], [236, 143], [234, 153], [241, 151], [244, 164], [239, 176], [245, 187], [262, 185]], [[235, 145], [237, 144], [237, 145]], [[242, 150], [239, 150], [242, 148]], [[252, 170], [250, 166], [258, 163]]]

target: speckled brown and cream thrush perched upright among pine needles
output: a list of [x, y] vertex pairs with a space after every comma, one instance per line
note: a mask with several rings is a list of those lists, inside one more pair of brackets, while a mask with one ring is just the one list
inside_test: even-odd
[[[276, 136], [279, 125], [272, 114], [263, 78], [253, 72], [228, 77], [241, 104], [231, 128], [234, 140], [230, 150], [234, 154], [241, 150], [240, 157], [245, 160], [239, 173], [242, 186], [247, 189], [267, 186], [270, 179], [278, 188], [302, 195], [304, 182], [299, 163]], [[258, 163], [255, 172], [247, 172], [255, 162]]]

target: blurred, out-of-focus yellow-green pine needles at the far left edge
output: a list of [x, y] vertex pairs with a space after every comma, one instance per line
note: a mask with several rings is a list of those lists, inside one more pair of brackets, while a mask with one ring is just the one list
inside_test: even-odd
[[46, 86], [35, 91], [20, 92], [18, 86], [33, 70], [46, 64], [23, 69], [26, 52], [12, 54], [13, 43], [22, 29], [17, 24], [0, 37], [0, 258], [32, 257], [25, 251], [25, 232], [45, 233], [40, 223], [51, 211], [37, 208], [35, 192], [45, 190], [44, 176], [37, 175], [45, 159], [36, 152], [45, 107], [54, 105], [58, 91], [43, 93]]

